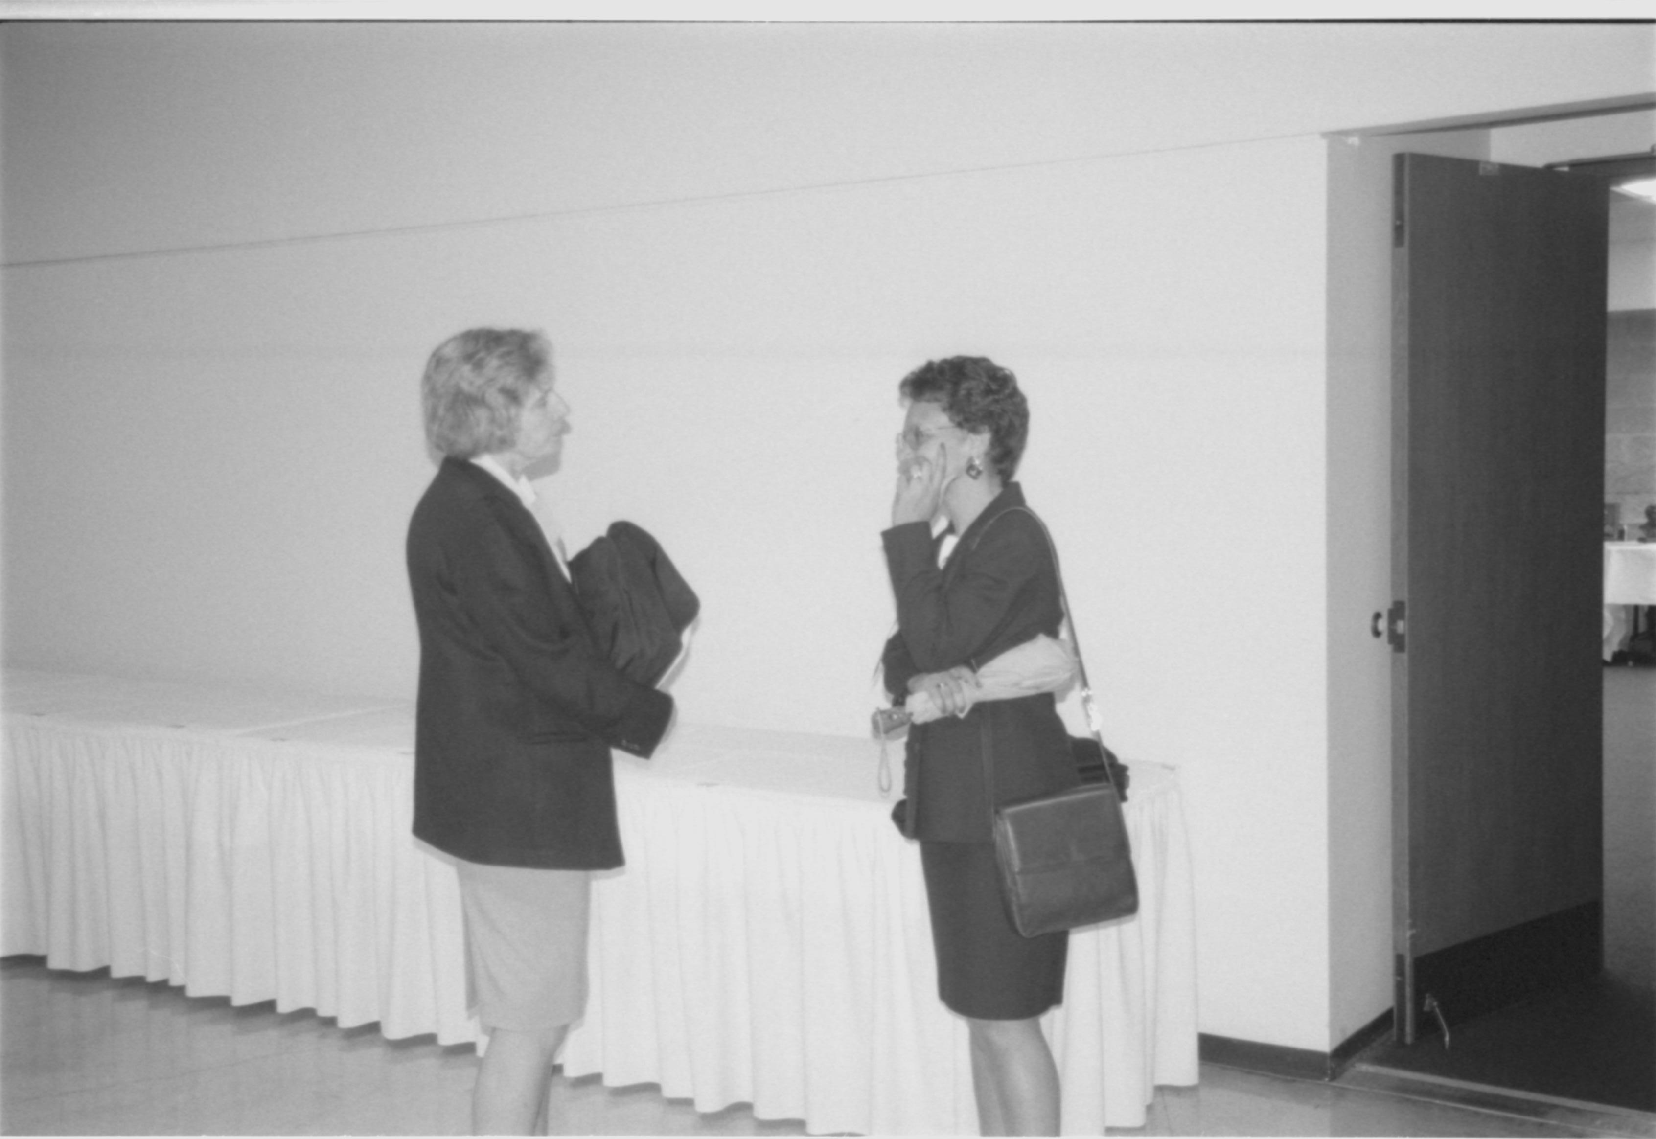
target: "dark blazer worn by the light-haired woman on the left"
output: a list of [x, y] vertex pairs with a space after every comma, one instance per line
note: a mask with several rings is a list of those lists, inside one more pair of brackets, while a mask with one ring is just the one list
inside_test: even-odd
[[623, 864], [609, 748], [647, 757], [672, 697], [599, 652], [523, 502], [445, 459], [414, 508], [414, 834], [489, 866]]

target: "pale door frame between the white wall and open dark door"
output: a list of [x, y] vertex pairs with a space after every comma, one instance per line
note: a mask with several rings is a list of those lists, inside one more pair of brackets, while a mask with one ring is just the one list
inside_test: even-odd
[[[1333, 131], [1328, 146], [1330, 1053], [1391, 1028], [1391, 156], [1489, 157], [1489, 131], [1656, 109], [1641, 94]], [[1580, 156], [1573, 156], [1580, 157]]]

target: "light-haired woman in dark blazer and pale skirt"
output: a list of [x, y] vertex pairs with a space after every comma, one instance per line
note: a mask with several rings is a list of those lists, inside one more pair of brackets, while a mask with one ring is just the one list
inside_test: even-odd
[[422, 394], [442, 459], [407, 533], [414, 834], [457, 859], [467, 980], [489, 1033], [472, 1127], [532, 1134], [586, 1007], [591, 871], [623, 863], [609, 748], [649, 755], [672, 699], [609, 664], [530, 512], [528, 473], [556, 469], [568, 434], [546, 338], [452, 336]]

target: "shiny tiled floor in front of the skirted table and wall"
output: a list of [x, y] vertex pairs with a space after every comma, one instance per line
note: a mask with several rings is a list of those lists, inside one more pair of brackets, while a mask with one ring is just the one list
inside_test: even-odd
[[[232, 1008], [164, 983], [0, 964], [5, 1134], [465, 1134], [475, 1056], [429, 1036], [388, 1041], [306, 1012]], [[1163, 1088], [1144, 1136], [1656, 1136], [1648, 1117], [1457, 1106], [1419, 1086], [1277, 1079], [1204, 1066]], [[1542, 1117], [1535, 1117], [1535, 1116]], [[745, 1106], [697, 1114], [652, 1086], [556, 1079], [555, 1134], [800, 1136]]]

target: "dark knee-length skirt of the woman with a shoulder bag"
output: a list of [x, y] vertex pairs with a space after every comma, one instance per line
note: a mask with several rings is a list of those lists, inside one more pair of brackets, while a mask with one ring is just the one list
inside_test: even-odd
[[921, 866], [944, 1005], [975, 1020], [1028, 1020], [1063, 1003], [1070, 934], [1012, 927], [994, 843], [922, 841]]

